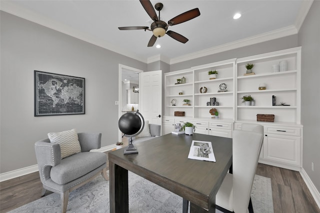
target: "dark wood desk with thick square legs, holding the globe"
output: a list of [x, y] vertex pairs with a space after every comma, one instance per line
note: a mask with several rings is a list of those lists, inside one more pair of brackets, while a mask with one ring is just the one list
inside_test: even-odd
[[[188, 159], [192, 140], [211, 141], [216, 162]], [[108, 152], [110, 212], [128, 212], [128, 170], [189, 200], [191, 212], [215, 212], [215, 194], [232, 164], [231, 138], [170, 133], [134, 146], [138, 154]]]

